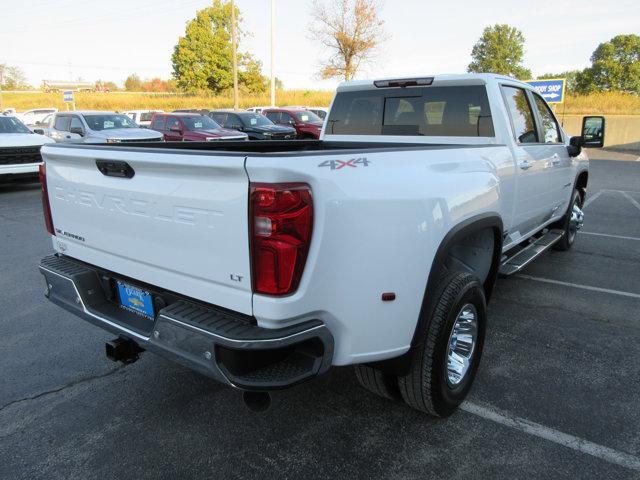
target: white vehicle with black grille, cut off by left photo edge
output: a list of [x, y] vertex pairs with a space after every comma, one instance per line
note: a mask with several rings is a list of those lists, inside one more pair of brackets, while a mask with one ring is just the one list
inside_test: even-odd
[[29, 130], [17, 117], [0, 115], [0, 179], [38, 173], [40, 147], [54, 143]]

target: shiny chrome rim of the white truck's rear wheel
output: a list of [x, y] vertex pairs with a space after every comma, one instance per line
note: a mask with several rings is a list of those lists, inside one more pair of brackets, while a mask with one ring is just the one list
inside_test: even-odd
[[451, 387], [458, 386], [469, 373], [478, 338], [478, 311], [465, 304], [453, 323], [447, 345], [446, 378]]

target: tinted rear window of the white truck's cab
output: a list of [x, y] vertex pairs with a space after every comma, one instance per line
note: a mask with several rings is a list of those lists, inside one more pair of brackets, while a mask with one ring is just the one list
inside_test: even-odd
[[484, 85], [341, 92], [327, 134], [494, 137]]

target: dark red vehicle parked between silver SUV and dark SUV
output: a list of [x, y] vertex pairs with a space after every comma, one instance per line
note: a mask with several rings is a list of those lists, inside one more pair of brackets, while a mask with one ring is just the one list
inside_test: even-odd
[[222, 128], [210, 117], [199, 113], [154, 113], [149, 128], [161, 132], [168, 142], [248, 139], [246, 133]]

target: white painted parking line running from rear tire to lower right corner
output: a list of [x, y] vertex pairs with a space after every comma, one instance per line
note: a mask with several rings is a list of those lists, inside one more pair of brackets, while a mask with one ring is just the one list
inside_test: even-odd
[[460, 405], [465, 412], [477, 415], [479, 417], [491, 420], [506, 427], [520, 430], [539, 438], [543, 438], [550, 442], [562, 445], [563, 447], [577, 450], [578, 452], [597, 457], [621, 467], [631, 470], [640, 471], [640, 458], [634, 457], [628, 453], [614, 450], [613, 448], [598, 445], [580, 437], [569, 435], [568, 433], [545, 427], [539, 423], [531, 422], [525, 418], [513, 416], [507, 412], [503, 412], [496, 408], [488, 408], [475, 403], [465, 402]]

